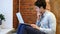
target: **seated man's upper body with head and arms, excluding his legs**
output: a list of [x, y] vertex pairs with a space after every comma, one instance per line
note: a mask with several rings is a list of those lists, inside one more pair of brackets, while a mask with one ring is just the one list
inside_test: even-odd
[[55, 34], [56, 18], [52, 12], [46, 10], [45, 0], [35, 2], [35, 8], [37, 11], [37, 23], [36, 25], [31, 24], [31, 26], [47, 34]]

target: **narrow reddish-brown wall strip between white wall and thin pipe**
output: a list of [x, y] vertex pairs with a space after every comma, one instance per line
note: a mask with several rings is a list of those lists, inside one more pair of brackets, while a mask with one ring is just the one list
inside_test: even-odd
[[19, 21], [16, 13], [19, 12], [19, 0], [13, 0], [13, 28], [17, 28]]

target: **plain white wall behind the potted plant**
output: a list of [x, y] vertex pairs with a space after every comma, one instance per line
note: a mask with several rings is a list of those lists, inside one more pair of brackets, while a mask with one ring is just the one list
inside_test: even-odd
[[0, 14], [4, 14], [6, 21], [2, 22], [3, 27], [13, 27], [13, 0], [0, 0]]

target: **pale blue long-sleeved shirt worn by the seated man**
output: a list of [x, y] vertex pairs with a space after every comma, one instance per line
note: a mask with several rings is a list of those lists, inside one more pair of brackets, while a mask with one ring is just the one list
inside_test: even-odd
[[[41, 19], [41, 16], [40, 16], [40, 19]], [[56, 17], [52, 12], [50, 12], [49, 10], [46, 10], [45, 13], [43, 14], [43, 18], [41, 19], [41, 21], [37, 20], [36, 25], [40, 27], [41, 31], [47, 34], [55, 34]]]

